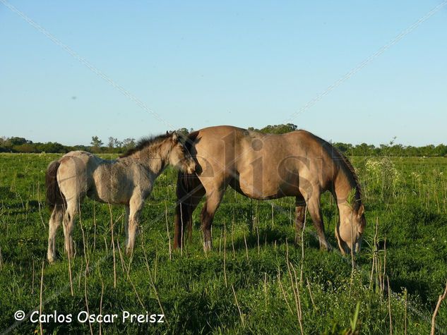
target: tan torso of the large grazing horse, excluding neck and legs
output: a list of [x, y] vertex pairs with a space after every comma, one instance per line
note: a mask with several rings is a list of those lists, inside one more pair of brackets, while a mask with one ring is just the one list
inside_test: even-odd
[[323, 188], [330, 178], [324, 143], [306, 130], [276, 135], [215, 126], [198, 130], [191, 154], [203, 184], [230, 181], [244, 195], [267, 199], [299, 196], [303, 183]]

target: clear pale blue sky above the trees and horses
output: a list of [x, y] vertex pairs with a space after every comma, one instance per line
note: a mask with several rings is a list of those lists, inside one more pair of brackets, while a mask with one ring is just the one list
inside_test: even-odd
[[[0, 135], [88, 144], [285, 123], [441, 1], [0, 1]], [[292, 120], [334, 142], [446, 143], [447, 6]]]

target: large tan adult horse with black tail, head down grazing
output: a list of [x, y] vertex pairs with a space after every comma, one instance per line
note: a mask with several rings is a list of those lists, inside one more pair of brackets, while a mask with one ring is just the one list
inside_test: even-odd
[[340, 213], [335, 227], [338, 246], [343, 254], [359, 250], [366, 224], [360, 185], [347, 158], [325, 140], [305, 130], [267, 135], [215, 126], [189, 134], [186, 146], [197, 168], [195, 173], [179, 172], [177, 179], [175, 248], [183, 243], [185, 228], [191, 234], [192, 213], [204, 195], [203, 249], [212, 248], [211, 224], [230, 185], [252, 199], [295, 197], [295, 240], [300, 236], [307, 208], [320, 248], [326, 250], [330, 245], [324, 235], [320, 197], [329, 190]]

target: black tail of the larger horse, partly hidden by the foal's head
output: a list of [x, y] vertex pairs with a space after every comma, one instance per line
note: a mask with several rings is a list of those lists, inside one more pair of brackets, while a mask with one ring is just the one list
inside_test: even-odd
[[[191, 152], [191, 147], [196, 140], [198, 131], [190, 133], [186, 136], [185, 147]], [[189, 240], [192, 237], [193, 209], [191, 206], [191, 197], [193, 196], [198, 185], [196, 173], [185, 173], [179, 171], [177, 176], [177, 206], [175, 209], [175, 238], [174, 248], [180, 248], [183, 243], [184, 232], [188, 232]], [[186, 228], [186, 229], [185, 229]]]

